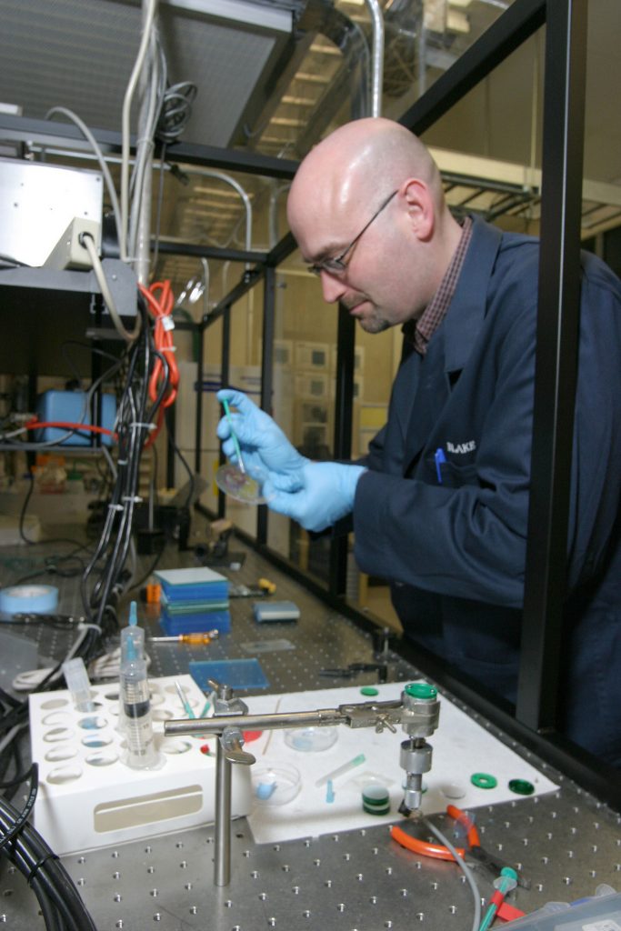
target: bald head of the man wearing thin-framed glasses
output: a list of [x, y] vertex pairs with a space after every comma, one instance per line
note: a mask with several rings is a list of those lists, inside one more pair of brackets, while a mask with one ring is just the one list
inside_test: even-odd
[[287, 215], [324, 299], [374, 333], [420, 317], [461, 235], [425, 145], [380, 118], [347, 123], [306, 155]]

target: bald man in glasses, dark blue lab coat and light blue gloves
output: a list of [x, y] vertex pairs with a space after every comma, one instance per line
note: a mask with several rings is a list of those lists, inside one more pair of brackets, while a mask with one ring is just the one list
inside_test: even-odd
[[[320, 142], [288, 215], [325, 300], [365, 331], [401, 327], [403, 358], [386, 425], [351, 465], [310, 462], [224, 389], [244, 462], [268, 505], [307, 530], [353, 517], [358, 565], [390, 581], [406, 636], [514, 701], [538, 241], [474, 216], [457, 223], [423, 143], [385, 119]], [[588, 253], [581, 271], [561, 727], [621, 765], [621, 282]], [[230, 430], [223, 419], [235, 458]]]

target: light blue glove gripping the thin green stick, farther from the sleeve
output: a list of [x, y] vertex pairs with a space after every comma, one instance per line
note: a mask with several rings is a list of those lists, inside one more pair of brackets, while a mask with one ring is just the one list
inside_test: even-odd
[[[229, 406], [236, 407], [236, 412], [231, 412], [231, 420], [244, 466], [250, 475], [277, 472], [281, 476], [290, 476], [289, 487], [298, 487], [297, 474], [308, 459], [300, 455], [276, 421], [241, 391], [222, 388], [216, 397], [221, 402], [226, 399]], [[226, 417], [218, 424], [217, 433], [223, 440], [224, 454], [231, 462], [236, 462], [235, 443]], [[284, 481], [281, 480], [280, 484], [285, 487]]]

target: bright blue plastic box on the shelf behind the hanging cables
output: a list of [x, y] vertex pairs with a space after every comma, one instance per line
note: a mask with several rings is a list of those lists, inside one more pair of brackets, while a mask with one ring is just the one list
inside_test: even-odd
[[[87, 412], [85, 414], [85, 404]], [[92, 423], [88, 400], [84, 391], [44, 391], [36, 400], [36, 412], [42, 423], [61, 421], [66, 424]], [[116, 398], [114, 395], [101, 395], [101, 424], [107, 430], [113, 430], [116, 417]], [[38, 442], [56, 442], [62, 446], [90, 446], [94, 436], [89, 430], [82, 433], [73, 433], [67, 437], [67, 430], [62, 427], [47, 426], [43, 430], [35, 430]], [[62, 439], [65, 438], [65, 439]], [[112, 446], [113, 438], [101, 434], [101, 443]]]

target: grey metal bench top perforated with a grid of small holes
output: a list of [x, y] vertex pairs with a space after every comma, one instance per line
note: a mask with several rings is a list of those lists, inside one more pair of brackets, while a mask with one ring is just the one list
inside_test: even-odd
[[[41, 552], [42, 546], [35, 552]], [[190, 662], [209, 656], [210, 660], [224, 662], [258, 659], [267, 684], [260, 689], [236, 691], [249, 701], [259, 695], [264, 700], [269, 695], [340, 687], [346, 687], [349, 695], [351, 689], [359, 692], [361, 687], [378, 682], [382, 682], [383, 690], [389, 690], [392, 682], [421, 678], [429, 681], [399, 654], [398, 642], [382, 643], [381, 637], [378, 640], [371, 623], [358, 625], [235, 537], [230, 540], [230, 550], [240, 555], [238, 562], [232, 560], [236, 568], [230, 564], [213, 568], [230, 580], [233, 591], [255, 587], [259, 578], [267, 577], [276, 584], [276, 593], [264, 599], [295, 602], [300, 619], [260, 625], [252, 612], [257, 598], [232, 597], [231, 632], [208, 646], [150, 645], [149, 638], [162, 633], [158, 607], [140, 601], [140, 623], [146, 628], [151, 657], [150, 678], [182, 676], [188, 672]], [[28, 557], [25, 547], [15, 547], [11, 552], [18, 561]], [[2, 556], [6, 566], [10, 558], [7, 548]], [[152, 559], [142, 558], [145, 566]], [[193, 549], [179, 552], [170, 547], [158, 568], [191, 565], [196, 565]], [[50, 582], [60, 588], [60, 613], [81, 614], [77, 580], [54, 578]], [[34, 650], [35, 657], [38, 651], [43, 663], [48, 657], [58, 660], [66, 654], [72, 636], [41, 625], [32, 630], [20, 629], [16, 638], [14, 627], [0, 626], [5, 672], [12, 651], [21, 651], [22, 664], [32, 662], [32, 655], [23, 655], [24, 649]], [[352, 672], [352, 663], [369, 668]], [[327, 674], [327, 669], [335, 670], [335, 674]], [[339, 670], [349, 678], [340, 677]], [[2, 684], [7, 687], [6, 681]], [[396, 689], [395, 697], [399, 694]], [[479, 725], [488, 739], [493, 739], [499, 753], [509, 749], [541, 774], [542, 780], [556, 787], [533, 797], [515, 795], [499, 803], [487, 803], [481, 792], [478, 804], [468, 804], [483, 847], [528, 879], [529, 887], [518, 887], [507, 900], [521, 911], [532, 912], [548, 902], [574, 902], [594, 896], [601, 884], [621, 891], [621, 817], [441, 686], [439, 698], [451, 703], [455, 713], [465, 714], [469, 722]], [[366, 699], [360, 696], [359, 700]], [[322, 703], [317, 702], [317, 707], [323, 707]], [[429, 738], [432, 745], [441, 730], [440, 717], [436, 735]], [[361, 749], [369, 733], [364, 729], [357, 732]], [[252, 749], [251, 744], [248, 746]], [[319, 763], [310, 756], [318, 754], [309, 755], [308, 762], [301, 763], [303, 778], [318, 772]], [[480, 761], [480, 769], [493, 772], [493, 753]], [[469, 773], [453, 775], [453, 781], [458, 782]], [[14, 803], [20, 807], [21, 797], [16, 796]], [[453, 803], [460, 805], [459, 801]], [[423, 807], [425, 810], [425, 803]], [[453, 843], [463, 843], [454, 839], [455, 825], [447, 814], [433, 814], [430, 820]], [[257, 843], [250, 818], [236, 818], [232, 823], [231, 876], [227, 885], [214, 884], [212, 824], [152, 835], [147, 831], [141, 840], [63, 855], [61, 861], [98, 931], [144, 931], [150, 927], [161, 931], [260, 931], [270, 927], [287, 931], [469, 929], [473, 900], [462, 872], [452, 862], [419, 856], [396, 843], [390, 835], [390, 824], [402, 823], [395, 808], [391, 821], [375, 823], [368, 816], [362, 826], [333, 829], [331, 809], [326, 805], [317, 812], [317, 830], [292, 839], [287, 835], [285, 840]], [[432, 839], [425, 831], [421, 836]], [[494, 891], [493, 875], [479, 869], [474, 870], [474, 875], [484, 900], [484, 914]], [[0, 924], [15, 931], [35, 931], [45, 926], [25, 878], [4, 858], [0, 860], [0, 889]], [[500, 921], [496, 924], [505, 926]], [[610, 924], [611, 928], [616, 926]], [[608, 931], [608, 925], [602, 927]]]

